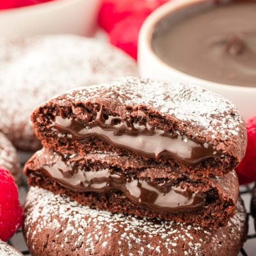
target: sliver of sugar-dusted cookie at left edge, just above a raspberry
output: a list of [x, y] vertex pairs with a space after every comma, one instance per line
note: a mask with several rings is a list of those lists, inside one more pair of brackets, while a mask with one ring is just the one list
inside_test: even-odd
[[12, 143], [0, 132], [0, 165], [13, 175], [15, 182], [20, 183], [21, 169], [19, 157]]

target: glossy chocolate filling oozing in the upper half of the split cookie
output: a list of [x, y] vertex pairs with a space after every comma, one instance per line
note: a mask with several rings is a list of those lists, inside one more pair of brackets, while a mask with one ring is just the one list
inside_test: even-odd
[[189, 140], [186, 136], [169, 134], [148, 124], [131, 124], [118, 116], [103, 117], [102, 108], [95, 121], [88, 124], [56, 116], [53, 126], [62, 134], [72, 134], [83, 140], [97, 137], [120, 148], [156, 159], [177, 159], [184, 164], [196, 164], [211, 157], [221, 157], [212, 145]]

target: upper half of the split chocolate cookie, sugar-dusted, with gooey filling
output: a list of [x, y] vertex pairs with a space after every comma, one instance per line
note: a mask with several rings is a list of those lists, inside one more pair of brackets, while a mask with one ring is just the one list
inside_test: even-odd
[[188, 84], [125, 77], [49, 100], [31, 116], [44, 147], [109, 151], [197, 175], [223, 175], [246, 149], [236, 107]]

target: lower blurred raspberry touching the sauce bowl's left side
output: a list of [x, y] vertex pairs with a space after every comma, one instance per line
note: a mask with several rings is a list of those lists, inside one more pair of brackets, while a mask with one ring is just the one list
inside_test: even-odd
[[109, 33], [111, 44], [137, 59], [138, 36], [145, 19], [144, 15], [132, 15], [119, 22]]

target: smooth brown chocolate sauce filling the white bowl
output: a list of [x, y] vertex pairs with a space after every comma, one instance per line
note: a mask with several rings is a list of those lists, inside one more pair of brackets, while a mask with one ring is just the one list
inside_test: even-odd
[[255, 87], [255, 13], [255, 1], [188, 2], [156, 25], [152, 48], [191, 76]]

